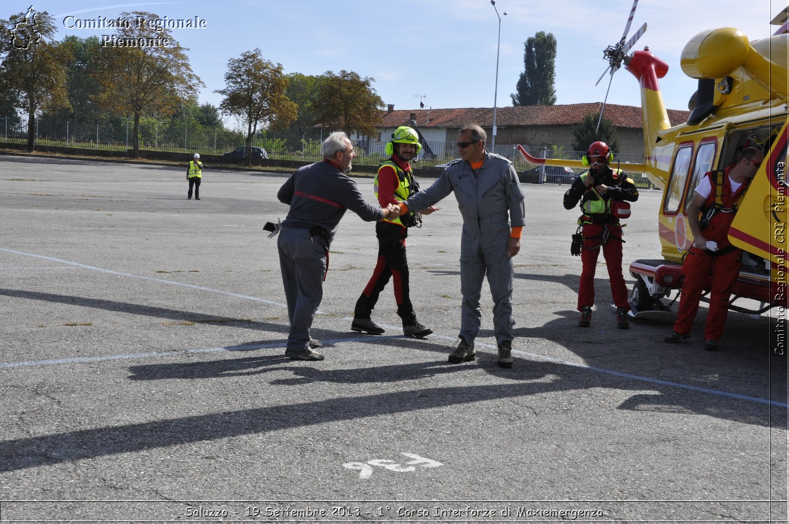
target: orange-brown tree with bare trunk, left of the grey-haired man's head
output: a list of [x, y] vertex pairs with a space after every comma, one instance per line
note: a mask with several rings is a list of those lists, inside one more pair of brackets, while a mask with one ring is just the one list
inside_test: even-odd
[[226, 87], [215, 92], [225, 97], [219, 104], [222, 113], [241, 118], [246, 125], [248, 166], [252, 165], [252, 137], [258, 125], [286, 127], [297, 116], [296, 104], [285, 94], [287, 85], [282, 64], [264, 60], [259, 48], [227, 62]]

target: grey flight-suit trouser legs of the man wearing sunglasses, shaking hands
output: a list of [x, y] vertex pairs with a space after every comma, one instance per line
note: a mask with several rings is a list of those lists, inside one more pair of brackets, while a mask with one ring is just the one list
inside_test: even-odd
[[[500, 252], [500, 250], [499, 250]], [[480, 332], [482, 313], [480, 297], [482, 281], [488, 276], [488, 285], [493, 298], [493, 328], [496, 344], [514, 338], [512, 327], [512, 259], [507, 253], [485, 256], [478, 253], [465, 254], [460, 259], [460, 292], [463, 302], [460, 316], [460, 336], [473, 342]]]

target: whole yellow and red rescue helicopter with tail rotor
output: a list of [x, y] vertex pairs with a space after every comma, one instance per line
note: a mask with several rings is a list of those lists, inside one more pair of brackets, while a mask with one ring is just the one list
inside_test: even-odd
[[[663, 190], [658, 216], [662, 258], [630, 264], [630, 275], [635, 279], [630, 316], [675, 317], [670, 307], [673, 301], [667, 305], [665, 298], [675, 294], [676, 300], [679, 296], [682, 260], [693, 245], [686, 205], [707, 171], [735, 163], [738, 153], [749, 146], [760, 148], [765, 161], [729, 229], [729, 240], [743, 250], [742, 270], [729, 309], [753, 315], [774, 307], [786, 309], [789, 8], [772, 20], [771, 24], [780, 28], [764, 39], [750, 41], [736, 28], [709, 29], [690, 39], [682, 51], [680, 66], [686, 75], [698, 80], [698, 88], [690, 99], [688, 121], [671, 127], [659, 84], [668, 71], [667, 63], [649, 47], [627, 54], [646, 30], [644, 24], [625, 42], [637, 3], [630, 11], [623, 38], [604, 51], [609, 62], [606, 72], [610, 70], [613, 75], [623, 67], [636, 77], [641, 88], [644, 163], [628, 163], [624, 170], [645, 174]], [[518, 150], [537, 166], [585, 169], [581, 160], [537, 158], [522, 145]], [[705, 291], [709, 291], [709, 281]], [[759, 305], [739, 305], [741, 298], [756, 300]], [[779, 319], [785, 320], [781, 315]]]

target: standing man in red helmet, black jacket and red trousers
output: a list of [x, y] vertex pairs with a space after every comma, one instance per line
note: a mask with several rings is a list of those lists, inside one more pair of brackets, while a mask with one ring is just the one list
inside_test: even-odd
[[[608, 144], [594, 142], [583, 158], [589, 171], [576, 178], [564, 193], [565, 209], [572, 209], [581, 201], [582, 214], [578, 219], [581, 234], [581, 279], [578, 282], [578, 311], [581, 318], [578, 319], [578, 325], [581, 328], [589, 328], [592, 321], [594, 275], [601, 250], [611, 282], [611, 298], [616, 305], [616, 326], [619, 329], [630, 328], [627, 321], [627, 286], [622, 275], [622, 224], [614, 211], [617, 200], [638, 200], [638, 189], [621, 170], [608, 167], [612, 159], [614, 155]], [[573, 249], [570, 252], [578, 254]]]

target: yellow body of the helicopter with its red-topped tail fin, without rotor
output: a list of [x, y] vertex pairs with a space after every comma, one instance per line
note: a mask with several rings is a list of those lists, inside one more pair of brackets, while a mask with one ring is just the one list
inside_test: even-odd
[[627, 61], [641, 84], [644, 172], [664, 189], [659, 222], [665, 260], [681, 261], [692, 245], [684, 213], [701, 177], [734, 163], [742, 148], [756, 145], [765, 152], [765, 162], [742, 200], [729, 238], [768, 261], [765, 269], [773, 283], [786, 280], [787, 51], [787, 34], [749, 43], [734, 28], [701, 32], [683, 50], [682, 69], [706, 84], [700, 82], [689, 122], [675, 127], [668, 124], [657, 83], [667, 66], [649, 51], [637, 51]]

